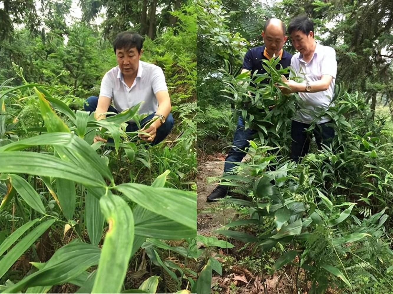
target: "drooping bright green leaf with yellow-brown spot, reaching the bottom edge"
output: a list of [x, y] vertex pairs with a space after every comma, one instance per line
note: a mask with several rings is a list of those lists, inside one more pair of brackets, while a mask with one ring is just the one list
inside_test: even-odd
[[119, 293], [134, 240], [134, 217], [127, 202], [109, 193], [99, 200], [109, 224], [92, 293]]

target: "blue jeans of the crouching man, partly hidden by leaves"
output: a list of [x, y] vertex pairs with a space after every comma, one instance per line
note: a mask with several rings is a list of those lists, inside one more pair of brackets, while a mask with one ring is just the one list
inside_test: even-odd
[[[97, 108], [97, 103], [98, 103], [98, 97], [97, 96], [90, 96], [89, 98], [86, 99], [86, 101], [83, 104], [84, 111], [90, 112], [90, 114], [95, 111]], [[112, 105], [109, 106], [108, 111], [114, 112], [114, 113], [119, 113]], [[141, 120], [141, 127], [143, 127], [149, 120], [153, 118], [153, 116], [156, 113], [151, 113], [143, 120]], [[108, 114], [110, 116], [110, 114]], [[127, 127], [126, 127], [126, 132], [136, 132], [138, 131], [138, 126], [136, 123], [129, 123], [127, 122]], [[151, 145], [156, 145], [160, 143], [162, 140], [166, 138], [166, 136], [169, 135], [173, 128], [173, 116], [171, 113], [169, 113], [168, 117], [165, 119], [165, 122], [157, 129], [156, 137], [154, 138], [153, 142], [151, 142]]]

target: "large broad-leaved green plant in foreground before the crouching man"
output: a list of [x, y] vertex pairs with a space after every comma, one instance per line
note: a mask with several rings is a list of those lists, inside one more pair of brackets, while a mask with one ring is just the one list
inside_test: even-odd
[[[195, 194], [163, 188], [169, 171], [159, 176], [150, 187], [136, 183], [116, 185], [105, 157], [95, 152], [99, 144], [88, 143], [98, 127], [106, 128], [114, 137], [117, 151], [122, 134], [119, 124], [134, 116], [138, 107], [97, 122], [94, 116], [82, 111], [73, 113], [64, 102], [45, 91], [44, 86], [35, 84], [4, 91], [0, 94], [0, 104], [4, 105], [3, 97], [7, 93], [35, 86], [47, 132], [8, 142], [1, 147], [1, 179], [7, 183], [8, 190], [0, 209], [4, 209], [12, 198], [17, 201], [21, 197], [39, 217], [26, 222], [0, 244], [1, 254], [8, 251], [0, 261], [0, 277], [55, 222], [77, 226], [79, 232], [85, 226], [90, 244], [84, 243], [81, 238], [73, 240], [58, 249], [48, 262], [35, 264], [38, 271], [15, 285], [7, 284], [5, 291], [11, 293], [26, 288], [36, 291], [32, 287], [50, 287], [66, 282], [81, 285], [75, 279], [82, 279], [86, 281], [88, 291], [119, 292], [129, 259], [146, 238], [183, 239], [195, 236]], [[74, 132], [57, 116], [49, 102], [75, 125], [72, 127]], [[53, 147], [52, 154], [20, 151], [44, 145]], [[89, 172], [86, 173], [86, 170]], [[64, 218], [47, 214], [39, 194], [16, 173], [39, 176], [55, 198]], [[57, 188], [56, 192], [53, 187]], [[86, 191], [83, 223], [76, 223], [73, 216], [77, 188]], [[81, 203], [82, 198], [79, 205]], [[101, 249], [97, 245], [103, 237], [104, 220], [109, 227]], [[33, 226], [34, 229], [31, 229]], [[12, 249], [11, 245], [14, 245]], [[98, 269], [91, 278], [86, 270], [94, 265], [98, 265]]]

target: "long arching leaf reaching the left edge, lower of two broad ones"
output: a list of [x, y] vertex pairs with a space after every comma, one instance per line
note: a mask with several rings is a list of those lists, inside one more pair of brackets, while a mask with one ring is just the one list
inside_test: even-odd
[[68, 179], [86, 186], [106, 187], [102, 178], [96, 178], [82, 167], [48, 154], [5, 151], [0, 152], [0, 162], [0, 172], [37, 174]]

